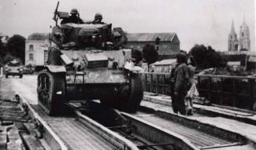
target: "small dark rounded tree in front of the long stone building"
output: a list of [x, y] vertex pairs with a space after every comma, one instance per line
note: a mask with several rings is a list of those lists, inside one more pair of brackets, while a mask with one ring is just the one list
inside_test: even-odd
[[143, 57], [146, 60], [148, 66], [158, 60], [158, 51], [154, 48], [154, 45], [147, 43], [143, 47]]

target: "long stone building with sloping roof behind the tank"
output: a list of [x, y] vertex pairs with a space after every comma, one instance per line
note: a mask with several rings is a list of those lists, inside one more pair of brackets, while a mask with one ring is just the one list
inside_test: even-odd
[[158, 55], [168, 58], [174, 56], [180, 51], [180, 40], [176, 33], [128, 33], [127, 46], [129, 48], [143, 49], [147, 43], [156, 44], [158, 38], [159, 44], [157, 45]]

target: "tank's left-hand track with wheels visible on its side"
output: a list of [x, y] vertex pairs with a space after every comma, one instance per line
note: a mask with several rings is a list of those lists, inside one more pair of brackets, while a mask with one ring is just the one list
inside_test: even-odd
[[39, 72], [37, 93], [39, 106], [48, 115], [60, 115], [64, 110], [65, 79], [64, 75], [43, 70]]

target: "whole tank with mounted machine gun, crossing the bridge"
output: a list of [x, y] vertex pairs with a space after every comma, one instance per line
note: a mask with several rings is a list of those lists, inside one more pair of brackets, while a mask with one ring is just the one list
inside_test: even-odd
[[50, 39], [47, 65], [38, 74], [39, 106], [48, 115], [65, 112], [65, 102], [99, 99], [109, 107], [135, 112], [143, 99], [138, 66], [132, 63], [132, 49], [121, 49], [127, 41], [121, 27], [112, 24], [58, 25]]

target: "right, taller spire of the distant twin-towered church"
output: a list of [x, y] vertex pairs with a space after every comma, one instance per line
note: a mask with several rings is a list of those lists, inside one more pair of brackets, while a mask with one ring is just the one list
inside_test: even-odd
[[239, 50], [250, 51], [250, 31], [243, 16], [243, 24], [240, 26], [239, 32]]

